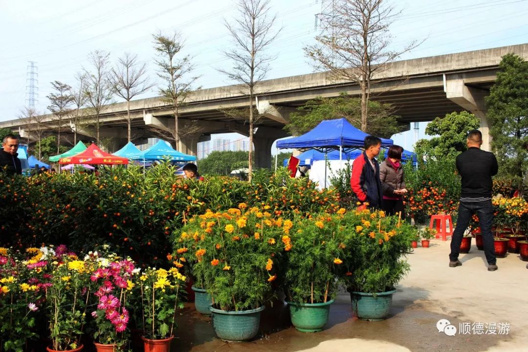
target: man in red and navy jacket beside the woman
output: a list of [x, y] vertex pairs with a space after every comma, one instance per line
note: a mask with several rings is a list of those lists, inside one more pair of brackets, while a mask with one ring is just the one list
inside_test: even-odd
[[350, 187], [361, 203], [369, 203], [369, 207], [381, 209], [382, 192], [380, 182], [380, 165], [376, 156], [380, 154], [381, 139], [366, 136], [363, 153], [352, 164]]

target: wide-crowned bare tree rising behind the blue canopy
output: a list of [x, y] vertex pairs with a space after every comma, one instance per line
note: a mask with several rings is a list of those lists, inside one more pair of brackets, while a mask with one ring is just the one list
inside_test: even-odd
[[[355, 82], [361, 89], [361, 130], [366, 131], [371, 85], [379, 82], [386, 64], [421, 42], [390, 50], [389, 27], [400, 15], [388, 0], [334, 0], [330, 13], [321, 14], [317, 44], [304, 48], [317, 69], [334, 80]], [[378, 75], [376, 78], [376, 75]]]

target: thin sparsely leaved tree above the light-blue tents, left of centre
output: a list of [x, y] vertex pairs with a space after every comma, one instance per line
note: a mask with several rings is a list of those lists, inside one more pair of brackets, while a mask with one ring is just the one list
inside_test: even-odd
[[190, 55], [185, 55], [181, 59], [177, 58], [183, 47], [180, 33], [174, 32], [172, 35], [165, 36], [159, 32], [153, 37], [154, 50], [158, 55], [158, 59], [155, 60], [158, 65], [157, 75], [164, 81], [165, 87], [159, 88], [159, 93], [162, 100], [171, 105], [174, 114], [174, 130], [158, 129], [158, 132], [173, 141], [176, 149], [181, 149], [180, 140], [185, 135], [192, 133], [195, 128], [180, 128], [178, 125], [180, 109], [185, 105], [188, 95], [195, 90], [192, 85], [199, 77], [190, 77], [194, 70]]

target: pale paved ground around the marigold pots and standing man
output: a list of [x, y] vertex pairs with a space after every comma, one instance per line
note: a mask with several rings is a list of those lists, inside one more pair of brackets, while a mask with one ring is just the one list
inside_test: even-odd
[[[448, 253], [449, 240], [433, 240], [430, 248], [419, 247], [409, 255], [411, 272], [399, 284], [385, 321], [357, 320], [351, 314], [350, 296], [341, 293], [322, 332], [295, 330], [289, 326], [287, 307], [275, 305], [266, 309], [258, 338], [224, 343], [215, 337], [210, 319], [188, 305], [172, 351], [527, 351], [526, 262], [518, 254], [508, 254], [497, 259], [497, 271], [488, 272], [484, 252], [473, 243], [468, 254], [460, 255], [463, 265], [449, 268]], [[461, 324], [475, 330], [447, 336], [436, 328], [440, 319], [449, 320], [457, 330]], [[489, 334], [490, 323], [497, 326], [495, 335]], [[277, 326], [281, 328], [271, 330]]]

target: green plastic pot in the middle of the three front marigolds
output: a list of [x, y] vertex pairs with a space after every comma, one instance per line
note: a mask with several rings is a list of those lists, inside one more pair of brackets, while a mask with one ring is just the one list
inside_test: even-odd
[[288, 302], [290, 307], [291, 324], [299, 331], [317, 332], [323, 330], [328, 315], [330, 305], [334, 300], [325, 303], [294, 303]]

